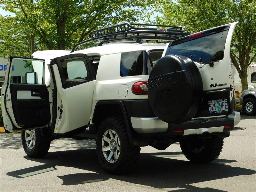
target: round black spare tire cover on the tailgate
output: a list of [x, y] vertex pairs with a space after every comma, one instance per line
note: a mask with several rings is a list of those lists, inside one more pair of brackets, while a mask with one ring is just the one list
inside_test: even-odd
[[166, 55], [156, 62], [148, 79], [148, 100], [159, 119], [186, 122], [195, 116], [202, 98], [202, 77], [191, 59]]

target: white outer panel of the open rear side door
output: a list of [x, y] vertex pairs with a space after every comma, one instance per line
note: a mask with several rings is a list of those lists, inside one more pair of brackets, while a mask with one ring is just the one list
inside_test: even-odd
[[57, 110], [54, 132], [66, 133], [87, 125], [92, 112], [95, 80], [63, 89], [57, 65], [52, 68], [57, 87], [57, 106], [63, 110]]

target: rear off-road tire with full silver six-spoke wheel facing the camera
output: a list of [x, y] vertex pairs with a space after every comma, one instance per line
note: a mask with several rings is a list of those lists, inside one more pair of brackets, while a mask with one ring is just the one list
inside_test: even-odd
[[[114, 140], [110, 137], [110, 134], [115, 138]], [[103, 137], [109, 142], [106, 142], [105, 139], [103, 140]], [[113, 146], [111, 146], [111, 144]], [[114, 144], [117, 147], [115, 151], [117, 155], [107, 160], [107, 157], [109, 157], [111, 153], [110, 150], [115, 150], [115, 148], [113, 148]], [[109, 147], [109, 150], [107, 149], [107, 151], [103, 152], [103, 149], [105, 150], [106, 147]], [[111, 149], [111, 147], [113, 149]], [[132, 171], [140, 158], [140, 147], [131, 146], [124, 120], [122, 117], [117, 116], [107, 117], [101, 122], [96, 138], [96, 151], [103, 169], [110, 174], [116, 175]]]

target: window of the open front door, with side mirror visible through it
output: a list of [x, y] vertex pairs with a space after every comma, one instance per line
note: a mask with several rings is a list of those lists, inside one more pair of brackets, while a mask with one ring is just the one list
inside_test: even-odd
[[44, 61], [13, 58], [10, 83], [44, 84]]

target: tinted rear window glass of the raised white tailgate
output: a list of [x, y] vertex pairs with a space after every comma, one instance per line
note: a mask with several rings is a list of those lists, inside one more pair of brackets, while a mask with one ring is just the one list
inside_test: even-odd
[[166, 55], [183, 55], [195, 62], [222, 60], [228, 30], [168, 47]]

